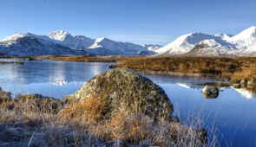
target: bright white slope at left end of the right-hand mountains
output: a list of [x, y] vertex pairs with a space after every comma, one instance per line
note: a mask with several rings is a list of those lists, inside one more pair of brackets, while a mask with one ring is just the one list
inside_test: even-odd
[[167, 46], [156, 50], [158, 55], [180, 55], [186, 54], [194, 48], [199, 42], [207, 39], [214, 39], [216, 36], [206, 35], [202, 33], [193, 33], [188, 35], [181, 35], [174, 42]]

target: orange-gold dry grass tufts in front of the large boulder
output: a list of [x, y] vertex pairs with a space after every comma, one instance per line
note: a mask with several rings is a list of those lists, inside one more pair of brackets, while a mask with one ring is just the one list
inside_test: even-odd
[[[139, 144], [147, 141], [160, 146], [202, 146], [203, 131], [179, 121], [155, 123], [142, 112], [131, 112], [121, 107], [108, 113], [108, 106], [100, 99], [91, 98], [83, 104], [73, 104], [61, 112], [62, 119], [86, 126], [89, 134], [115, 142]], [[205, 140], [206, 141], [206, 140]], [[211, 143], [215, 145], [215, 143]]]

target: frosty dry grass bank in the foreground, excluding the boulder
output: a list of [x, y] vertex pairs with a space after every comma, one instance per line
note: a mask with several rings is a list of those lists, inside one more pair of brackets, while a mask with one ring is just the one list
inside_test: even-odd
[[[96, 98], [83, 104], [64, 106], [59, 99], [37, 94], [10, 99], [0, 94], [0, 145], [7, 146], [216, 146], [216, 137], [207, 140], [201, 121], [191, 125], [153, 122], [141, 112], [106, 112]], [[207, 142], [207, 143], [206, 143]]]

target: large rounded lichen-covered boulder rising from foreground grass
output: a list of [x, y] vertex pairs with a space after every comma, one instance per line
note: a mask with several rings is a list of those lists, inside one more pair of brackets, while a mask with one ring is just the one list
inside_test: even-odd
[[91, 98], [106, 101], [110, 107], [108, 113], [126, 108], [153, 120], [170, 120], [174, 111], [160, 86], [127, 68], [115, 68], [95, 76], [63, 101], [68, 105], [82, 104]]

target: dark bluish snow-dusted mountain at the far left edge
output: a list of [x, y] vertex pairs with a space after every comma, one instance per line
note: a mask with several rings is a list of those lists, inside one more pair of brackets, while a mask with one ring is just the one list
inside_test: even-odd
[[53, 55], [53, 54], [84, 54], [82, 50], [75, 50], [40, 35], [16, 34], [0, 42], [0, 53], [7, 55]]

